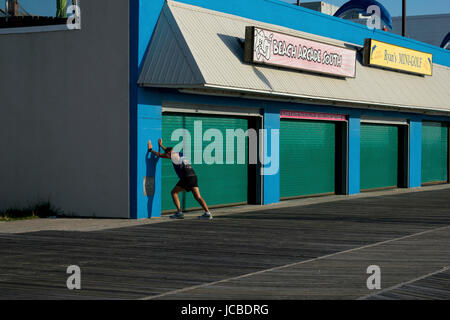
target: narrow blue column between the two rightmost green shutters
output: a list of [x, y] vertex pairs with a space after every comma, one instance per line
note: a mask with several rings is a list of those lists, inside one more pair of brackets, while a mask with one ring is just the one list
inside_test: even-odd
[[422, 185], [422, 121], [409, 122], [409, 187]]

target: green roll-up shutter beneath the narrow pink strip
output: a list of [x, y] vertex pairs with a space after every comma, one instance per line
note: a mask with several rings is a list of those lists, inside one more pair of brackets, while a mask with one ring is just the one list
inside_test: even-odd
[[331, 122], [282, 120], [282, 198], [335, 192], [335, 136]]

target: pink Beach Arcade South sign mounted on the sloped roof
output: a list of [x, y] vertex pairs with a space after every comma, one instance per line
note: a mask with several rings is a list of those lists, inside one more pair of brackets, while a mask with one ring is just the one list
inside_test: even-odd
[[344, 78], [356, 76], [355, 50], [256, 27], [246, 27], [245, 62]]

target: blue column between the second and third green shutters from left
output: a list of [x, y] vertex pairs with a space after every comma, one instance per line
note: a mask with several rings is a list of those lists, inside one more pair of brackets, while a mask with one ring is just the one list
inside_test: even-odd
[[360, 193], [361, 119], [351, 115], [348, 120], [348, 194]]

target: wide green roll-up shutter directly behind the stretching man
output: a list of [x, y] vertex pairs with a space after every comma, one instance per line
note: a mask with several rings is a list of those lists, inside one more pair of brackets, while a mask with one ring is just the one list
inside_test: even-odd
[[[203, 134], [208, 129], [217, 129], [223, 136], [223, 164], [208, 165], [202, 157], [202, 164], [194, 163], [194, 122], [202, 121]], [[242, 129], [247, 131], [248, 120], [241, 118], [229, 118], [218, 116], [192, 116], [189, 114], [168, 114], [163, 115], [163, 142], [164, 146], [174, 147], [179, 143], [179, 140], [172, 142], [171, 135], [177, 129], [187, 129], [191, 134], [191, 162], [193, 168], [198, 176], [198, 184], [202, 197], [209, 206], [226, 205], [235, 203], [247, 203], [247, 154], [248, 154], [248, 140], [245, 142], [245, 163], [238, 164], [238, 143], [235, 139], [234, 143], [234, 164], [226, 164], [226, 155], [231, 150], [230, 145], [225, 143], [227, 129]], [[211, 141], [203, 141], [202, 152], [211, 144]], [[197, 146], [198, 147], [198, 146]], [[186, 152], [185, 152], [186, 154]], [[215, 153], [213, 152], [213, 155]], [[162, 161], [162, 210], [175, 209], [170, 191], [178, 182], [178, 176], [173, 169], [170, 160]], [[183, 192], [180, 194], [181, 206], [183, 209], [199, 207], [195, 201], [192, 193]]]

